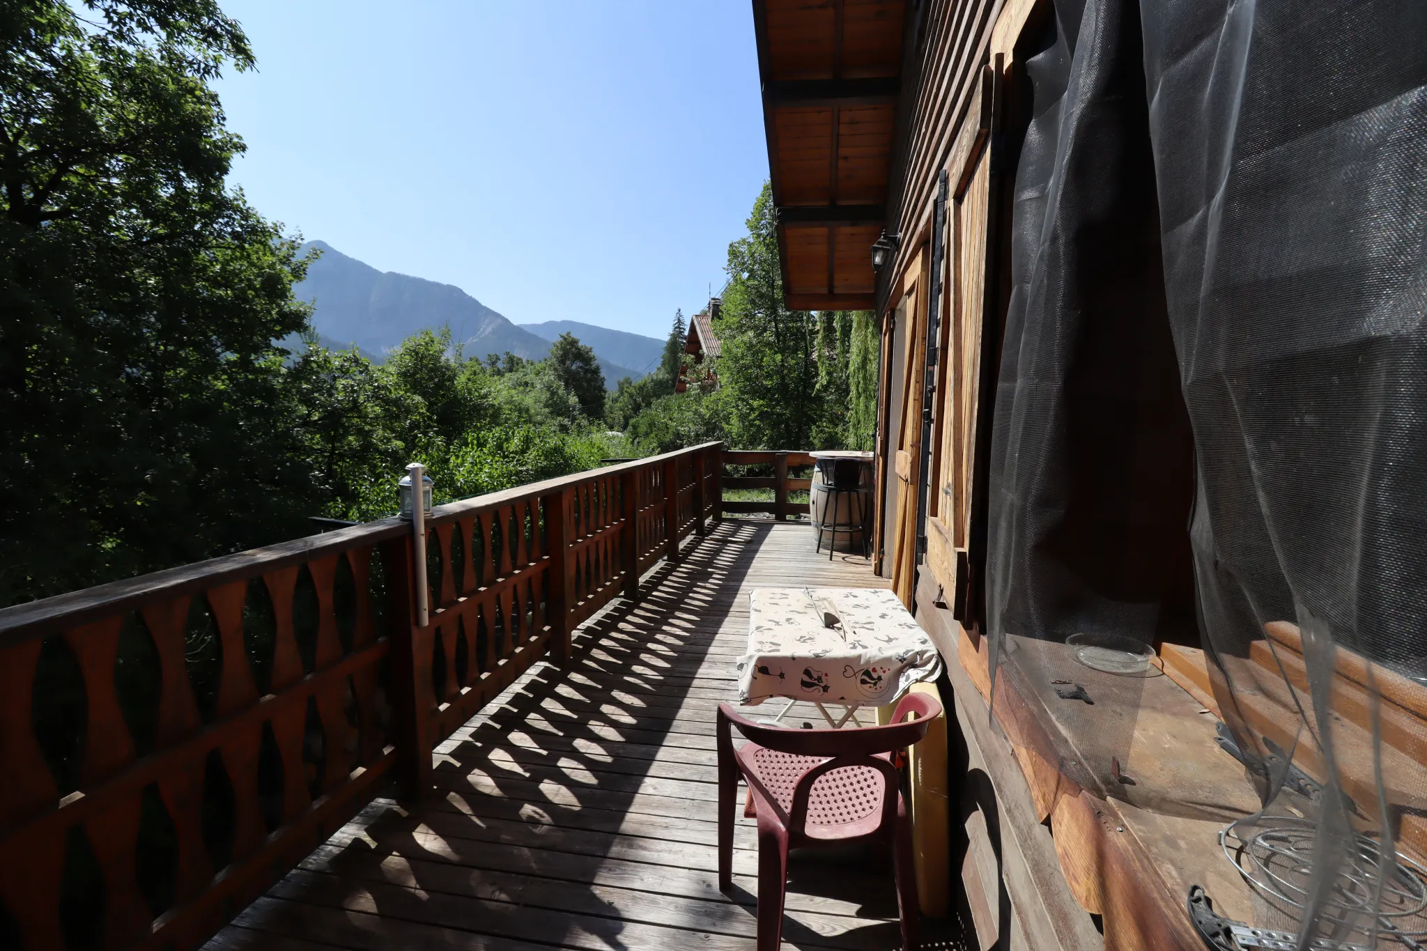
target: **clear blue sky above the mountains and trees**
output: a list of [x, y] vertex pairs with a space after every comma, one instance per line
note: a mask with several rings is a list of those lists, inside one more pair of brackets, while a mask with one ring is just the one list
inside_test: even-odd
[[225, 0], [217, 84], [268, 218], [517, 324], [651, 336], [723, 281], [768, 175], [746, 0]]

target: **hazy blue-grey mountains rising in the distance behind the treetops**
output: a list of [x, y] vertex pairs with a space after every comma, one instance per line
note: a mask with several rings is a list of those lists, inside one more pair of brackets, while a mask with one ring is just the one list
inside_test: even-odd
[[[313, 302], [317, 332], [341, 346], [355, 344], [384, 358], [387, 351], [420, 329], [450, 327], [452, 341], [461, 344], [468, 356], [484, 358], [509, 351], [517, 356], [541, 359], [549, 352], [548, 339], [521, 329], [458, 287], [378, 271], [325, 241], [303, 245], [304, 252], [308, 248], [320, 248], [323, 255], [308, 268], [307, 279], [294, 288], [294, 294]], [[611, 389], [621, 376], [642, 376], [609, 361], [591, 341], [581, 338], [581, 342], [594, 348], [605, 385]]]

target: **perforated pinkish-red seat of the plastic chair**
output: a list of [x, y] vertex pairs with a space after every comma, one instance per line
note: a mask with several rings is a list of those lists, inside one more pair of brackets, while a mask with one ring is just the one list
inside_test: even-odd
[[[738, 750], [746, 774], [763, 784], [785, 814], [793, 808], [793, 788], [808, 770], [826, 763], [826, 757], [779, 753], [746, 743]], [[878, 759], [888, 759], [885, 754]], [[752, 788], [752, 786], [751, 786]], [[855, 838], [878, 828], [882, 821], [882, 797], [886, 780], [870, 766], [845, 766], [819, 776], [808, 793], [808, 820], [803, 834], [809, 838]], [[755, 800], [762, 798], [753, 790]]]

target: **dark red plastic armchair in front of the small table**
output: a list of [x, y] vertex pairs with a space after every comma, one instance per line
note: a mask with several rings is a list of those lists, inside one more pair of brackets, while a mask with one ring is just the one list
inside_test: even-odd
[[[888, 726], [788, 730], [718, 706], [718, 878], [719, 887], [731, 887], [742, 776], [758, 816], [758, 951], [778, 951], [782, 940], [789, 848], [888, 838], [896, 854], [902, 947], [916, 948], [912, 820], [892, 754], [926, 736], [940, 711], [932, 697], [909, 693]], [[908, 714], [916, 720], [903, 723]], [[749, 740], [738, 750], [731, 726]]]

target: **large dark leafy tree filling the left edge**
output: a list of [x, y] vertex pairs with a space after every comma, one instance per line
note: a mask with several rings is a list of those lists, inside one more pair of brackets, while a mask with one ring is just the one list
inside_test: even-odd
[[[83, 19], [81, 19], [83, 16]], [[213, 0], [0, 14], [0, 603], [303, 530], [297, 242], [225, 185]]]

